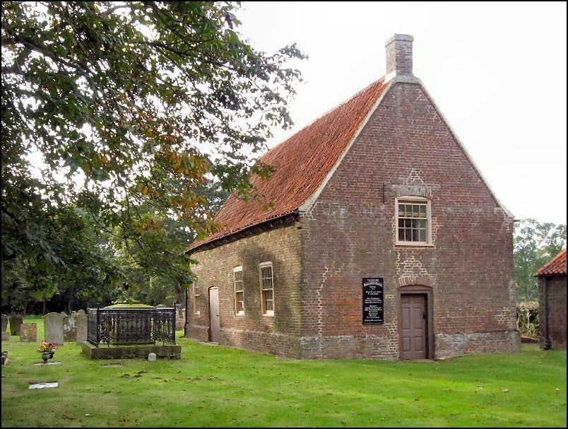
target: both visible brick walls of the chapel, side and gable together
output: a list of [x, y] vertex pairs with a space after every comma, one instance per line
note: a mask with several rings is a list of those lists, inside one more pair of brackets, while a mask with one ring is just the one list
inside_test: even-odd
[[[432, 247], [395, 245], [395, 198], [425, 196]], [[401, 289], [432, 290], [432, 355], [519, 351], [513, 219], [497, 204], [431, 100], [396, 83], [300, 222], [192, 257], [207, 341], [207, 288], [217, 286], [220, 343], [288, 358], [398, 359]], [[300, 252], [302, 257], [300, 257]], [[273, 262], [275, 316], [260, 314], [258, 264]], [[232, 268], [243, 266], [245, 315]], [[384, 278], [384, 324], [362, 324], [362, 278]], [[192, 295], [188, 308], [192, 309]]]

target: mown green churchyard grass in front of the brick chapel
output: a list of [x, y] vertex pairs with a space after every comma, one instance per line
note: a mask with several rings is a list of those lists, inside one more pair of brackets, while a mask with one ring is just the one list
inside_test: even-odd
[[[179, 338], [182, 359], [89, 360], [65, 343], [2, 342], [8, 427], [559, 427], [567, 425], [566, 351], [432, 362], [281, 360]], [[30, 384], [58, 382], [52, 389]]]

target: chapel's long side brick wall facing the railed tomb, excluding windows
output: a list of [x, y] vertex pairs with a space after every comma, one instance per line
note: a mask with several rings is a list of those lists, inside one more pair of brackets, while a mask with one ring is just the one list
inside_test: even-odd
[[[251, 204], [256, 204], [252, 202]], [[219, 290], [219, 343], [285, 358], [300, 357], [300, 229], [295, 223], [192, 255], [201, 287], [201, 312], [194, 314], [190, 290], [189, 338], [208, 341], [208, 288]], [[261, 315], [259, 264], [273, 264], [274, 316]], [[242, 266], [244, 315], [235, 315], [232, 269]]]

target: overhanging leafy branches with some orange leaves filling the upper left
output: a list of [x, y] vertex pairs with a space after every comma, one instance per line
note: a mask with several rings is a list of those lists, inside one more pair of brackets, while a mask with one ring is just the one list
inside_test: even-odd
[[[88, 228], [122, 242], [145, 273], [187, 285], [195, 261], [167, 223], [193, 236], [218, 228], [208, 181], [260, 199], [249, 177], [270, 168], [254, 155], [271, 129], [292, 124], [287, 103], [302, 79], [290, 64], [305, 57], [295, 45], [254, 49], [237, 32], [239, 7], [2, 2], [3, 299], [18, 277], [4, 271], [27, 255], [41, 254], [25, 268], [37, 278], [49, 268], [51, 286], [29, 289], [47, 298], [58, 276], [73, 278], [77, 254], [95, 266], [88, 259], [105, 251], [91, 255], [71, 240], [93, 237]], [[76, 210], [84, 223], [62, 229], [63, 249], [50, 233], [63, 223], [53, 221]], [[120, 278], [114, 268], [105, 278]]]

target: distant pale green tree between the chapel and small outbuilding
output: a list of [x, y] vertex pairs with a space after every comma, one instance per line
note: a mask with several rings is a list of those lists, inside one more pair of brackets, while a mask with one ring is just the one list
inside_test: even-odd
[[523, 219], [514, 226], [517, 302], [538, 300], [535, 273], [566, 247], [566, 225]]

